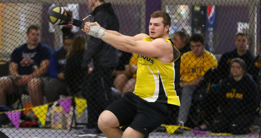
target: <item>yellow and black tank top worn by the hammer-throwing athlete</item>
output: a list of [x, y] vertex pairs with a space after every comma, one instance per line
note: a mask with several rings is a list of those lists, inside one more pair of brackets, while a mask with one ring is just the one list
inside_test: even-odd
[[[150, 37], [143, 40], [152, 41]], [[174, 61], [162, 63], [157, 57], [138, 55], [137, 81], [134, 94], [148, 102], [180, 106], [176, 92], [180, 81], [180, 52], [174, 47], [170, 37], [166, 41], [173, 46]]]

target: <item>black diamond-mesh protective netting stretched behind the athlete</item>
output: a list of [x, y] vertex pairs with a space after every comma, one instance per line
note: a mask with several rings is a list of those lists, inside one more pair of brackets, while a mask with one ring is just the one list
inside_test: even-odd
[[[80, 21], [92, 18], [80, 27], [53, 25], [53, 6]], [[181, 106], [172, 105], [170, 118], [149, 137], [260, 137], [261, 25], [255, 0], [1, 0], [1, 132], [103, 137], [98, 116], [134, 91], [138, 58], [146, 57], [118, 51], [81, 28], [96, 21], [127, 36], [149, 34], [150, 15], [157, 10], [169, 14], [169, 36], [181, 53], [181, 88], [175, 93]]]

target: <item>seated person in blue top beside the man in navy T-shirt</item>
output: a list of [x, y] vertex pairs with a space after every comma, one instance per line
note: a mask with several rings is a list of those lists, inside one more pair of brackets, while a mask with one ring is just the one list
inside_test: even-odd
[[31, 96], [34, 106], [43, 105], [46, 96], [48, 102], [53, 102], [59, 98], [60, 94], [66, 93], [67, 85], [64, 81], [64, 65], [66, 54], [73, 43], [74, 35], [70, 28], [63, 28], [63, 46], [55, 50], [50, 59], [48, 77], [38, 77], [30, 81], [28, 93]]

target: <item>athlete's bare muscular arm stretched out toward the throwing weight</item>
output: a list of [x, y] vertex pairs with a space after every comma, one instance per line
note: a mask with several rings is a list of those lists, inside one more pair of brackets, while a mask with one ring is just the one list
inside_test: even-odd
[[[92, 25], [97, 25], [95, 23], [91, 23]], [[85, 23], [84, 27], [85, 32], [89, 32], [89, 24]], [[134, 37], [125, 37], [120, 35], [120, 33], [116, 33], [115, 31], [105, 30], [104, 34], [102, 35], [101, 39], [116, 49], [132, 52], [135, 54], [141, 54], [147, 57], [158, 57], [162, 58], [166, 55], [171, 55], [173, 53], [173, 48], [166, 40], [162, 38], [157, 38], [152, 42], [147, 41], [140, 41], [145, 38], [146, 34], [139, 34]], [[165, 63], [171, 62], [172, 58], [168, 58], [167, 60], [163, 60]]]

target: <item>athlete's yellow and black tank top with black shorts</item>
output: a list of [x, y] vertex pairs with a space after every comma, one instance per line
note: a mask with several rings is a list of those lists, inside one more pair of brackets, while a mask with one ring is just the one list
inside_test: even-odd
[[[152, 41], [150, 37], [143, 40]], [[172, 43], [170, 37], [166, 39]], [[170, 117], [171, 105], [180, 106], [180, 53], [173, 46], [174, 61], [162, 63], [156, 57], [138, 55], [137, 82], [134, 92], [126, 92], [105, 110], [111, 111], [120, 126], [129, 126], [148, 137]]]

